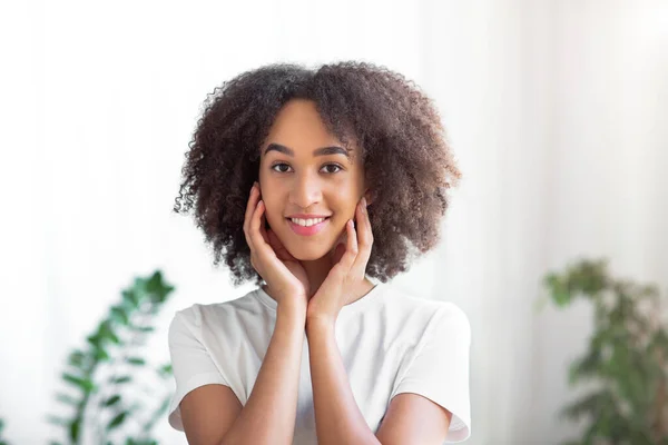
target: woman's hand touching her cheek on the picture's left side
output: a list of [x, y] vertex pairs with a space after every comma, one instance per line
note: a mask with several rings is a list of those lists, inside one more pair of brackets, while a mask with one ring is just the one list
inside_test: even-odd
[[287, 251], [276, 234], [265, 228], [264, 218], [265, 205], [261, 200], [259, 185], [255, 182], [244, 219], [244, 234], [250, 247], [250, 264], [267, 283], [268, 291], [278, 305], [289, 305], [306, 314], [311, 291], [306, 270]]

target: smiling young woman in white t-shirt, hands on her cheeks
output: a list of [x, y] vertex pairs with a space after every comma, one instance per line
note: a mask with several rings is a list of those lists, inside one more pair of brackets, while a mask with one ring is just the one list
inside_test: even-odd
[[257, 286], [170, 324], [189, 444], [469, 437], [465, 314], [387, 284], [438, 244], [460, 177], [418, 87], [362, 62], [242, 73], [205, 102], [183, 172], [175, 211]]

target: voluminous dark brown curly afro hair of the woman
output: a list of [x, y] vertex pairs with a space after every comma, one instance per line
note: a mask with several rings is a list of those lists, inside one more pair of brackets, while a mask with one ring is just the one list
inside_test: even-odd
[[461, 172], [432, 100], [414, 82], [367, 62], [311, 70], [274, 63], [229, 81], [204, 102], [174, 211], [195, 206], [197, 227], [213, 244], [235, 286], [263, 279], [250, 265], [244, 216], [259, 175], [259, 149], [276, 115], [291, 99], [308, 99], [327, 130], [362, 151], [374, 234], [367, 276], [383, 283], [440, 240], [446, 189]]

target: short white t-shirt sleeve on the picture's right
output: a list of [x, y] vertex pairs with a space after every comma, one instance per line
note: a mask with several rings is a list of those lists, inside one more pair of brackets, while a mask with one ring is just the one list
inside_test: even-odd
[[471, 326], [462, 309], [446, 303], [430, 322], [412, 363], [400, 376], [392, 397], [415, 393], [452, 413], [445, 443], [471, 435], [469, 352]]

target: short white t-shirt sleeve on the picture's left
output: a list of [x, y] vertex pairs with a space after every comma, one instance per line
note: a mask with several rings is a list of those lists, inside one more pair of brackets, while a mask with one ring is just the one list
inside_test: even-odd
[[177, 312], [168, 332], [171, 369], [176, 380], [168, 421], [178, 431], [184, 431], [179, 404], [186, 394], [208, 384], [229, 386], [204, 347], [198, 335], [199, 326], [193, 315]]

